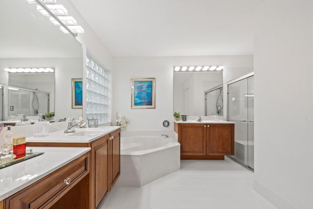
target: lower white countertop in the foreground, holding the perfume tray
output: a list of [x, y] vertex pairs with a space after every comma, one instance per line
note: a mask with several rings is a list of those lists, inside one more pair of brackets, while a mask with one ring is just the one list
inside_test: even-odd
[[26, 147], [43, 155], [0, 169], [0, 200], [87, 153], [89, 147]]

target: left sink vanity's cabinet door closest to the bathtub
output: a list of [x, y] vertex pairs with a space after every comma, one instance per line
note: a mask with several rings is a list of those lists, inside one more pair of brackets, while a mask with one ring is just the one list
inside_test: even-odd
[[120, 175], [120, 129], [111, 133], [110, 137], [110, 189]]

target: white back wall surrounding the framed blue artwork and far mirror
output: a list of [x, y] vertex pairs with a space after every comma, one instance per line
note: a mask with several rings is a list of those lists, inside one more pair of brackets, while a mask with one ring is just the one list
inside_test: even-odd
[[[228, 76], [231, 69], [252, 70], [253, 56], [114, 58], [113, 124], [118, 112], [130, 119], [127, 130], [173, 130], [173, 122], [169, 128], [164, 128], [162, 122], [173, 121], [173, 67], [183, 65], [224, 65], [224, 78], [232, 79]], [[132, 77], [156, 78], [156, 109], [131, 109]]]

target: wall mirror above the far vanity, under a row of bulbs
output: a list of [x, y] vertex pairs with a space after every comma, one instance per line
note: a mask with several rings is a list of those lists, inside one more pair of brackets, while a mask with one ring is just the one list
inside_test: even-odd
[[174, 72], [174, 111], [223, 116], [223, 72]]

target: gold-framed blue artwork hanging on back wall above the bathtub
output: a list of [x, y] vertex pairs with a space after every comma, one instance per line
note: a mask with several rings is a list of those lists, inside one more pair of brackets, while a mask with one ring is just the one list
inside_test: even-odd
[[156, 108], [156, 78], [132, 78], [132, 109]]

